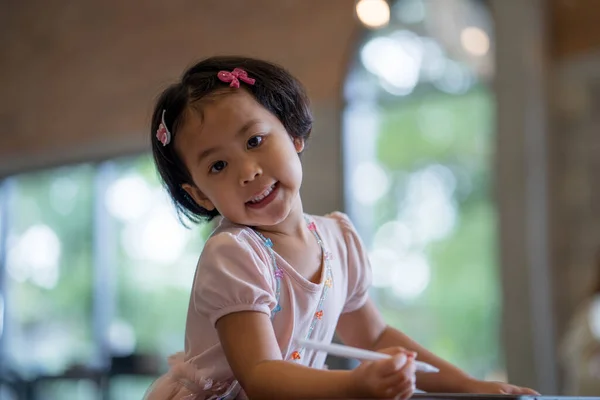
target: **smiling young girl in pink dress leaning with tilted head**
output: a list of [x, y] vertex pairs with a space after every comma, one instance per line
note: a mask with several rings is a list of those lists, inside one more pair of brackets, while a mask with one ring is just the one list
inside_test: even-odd
[[[152, 150], [178, 211], [222, 219], [200, 256], [185, 353], [147, 399], [400, 398], [431, 392], [533, 393], [476, 380], [388, 326], [368, 297], [369, 261], [347, 216], [304, 213], [300, 154], [312, 116], [282, 68], [242, 57], [191, 67], [160, 96]], [[331, 371], [298, 339], [382, 351]], [[415, 372], [415, 358], [438, 374]]]

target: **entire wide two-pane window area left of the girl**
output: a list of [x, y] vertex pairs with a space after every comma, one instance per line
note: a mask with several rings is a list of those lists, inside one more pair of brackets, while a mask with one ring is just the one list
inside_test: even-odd
[[149, 155], [8, 178], [0, 210], [2, 351], [16, 390], [141, 398], [183, 349], [210, 225], [180, 224]]

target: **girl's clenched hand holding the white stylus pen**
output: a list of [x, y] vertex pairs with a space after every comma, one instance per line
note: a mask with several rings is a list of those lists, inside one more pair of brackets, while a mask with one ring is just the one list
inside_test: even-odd
[[352, 371], [361, 397], [406, 400], [415, 390], [416, 354], [402, 347], [379, 350], [388, 360], [362, 362]]

